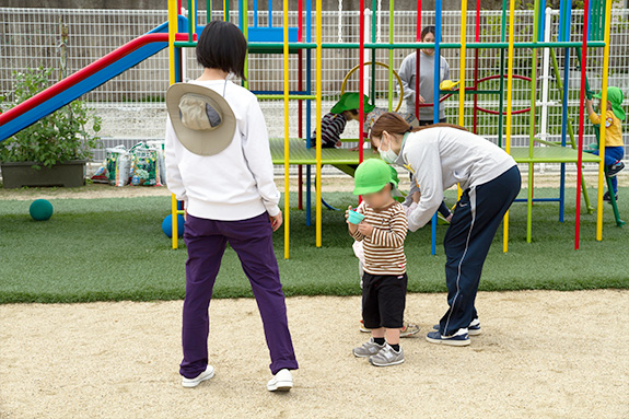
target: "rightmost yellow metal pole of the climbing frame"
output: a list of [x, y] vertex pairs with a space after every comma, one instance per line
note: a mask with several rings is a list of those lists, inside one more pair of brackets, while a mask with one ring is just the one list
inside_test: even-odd
[[[605, 181], [605, 120], [607, 119], [607, 77], [609, 74], [609, 32], [611, 28], [611, 1], [605, 3], [605, 47], [603, 47], [603, 85], [601, 94], [601, 136], [598, 143], [598, 196], [596, 199], [596, 241], [603, 240], [603, 184]], [[613, 190], [609, 191], [611, 194]]]

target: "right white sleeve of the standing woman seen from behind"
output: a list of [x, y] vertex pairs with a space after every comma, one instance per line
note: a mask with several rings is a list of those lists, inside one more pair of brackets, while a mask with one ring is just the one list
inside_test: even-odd
[[256, 179], [258, 193], [269, 216], [280, 213], [280, 193], [273, 182], [273, 163], [265, 117], [257, 100], [253, 100], [242, 131], [243, 152], [247, 166]]

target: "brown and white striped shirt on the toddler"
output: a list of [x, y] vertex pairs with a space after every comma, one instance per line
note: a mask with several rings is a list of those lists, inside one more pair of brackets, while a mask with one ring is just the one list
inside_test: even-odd
[[369, 237], [358, 230], [351, 234], [363, 243], [364, 271], [371, 275], [405, 273], [404, 240], [408, 222], [401, 203], [394, 202], [382, 210], [375, 210], [363, 201], [357, 212], [364, 216], [362, 222], [373, 225], [373, 233]]

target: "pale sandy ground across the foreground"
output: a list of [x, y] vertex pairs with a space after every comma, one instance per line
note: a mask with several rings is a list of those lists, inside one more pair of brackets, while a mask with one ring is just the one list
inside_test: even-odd
[[627, 418], [629, 291], [480, 293], [484, 334], [428, 344], [444, 294], [408, 295], [406, 363], [356, 359], [358, 298], [288, 299], [301, 369], [266, 391], [254, 300], [216, 300], [217, 375], [180, 386], [180, 301], [0, 306], [0, 418]]

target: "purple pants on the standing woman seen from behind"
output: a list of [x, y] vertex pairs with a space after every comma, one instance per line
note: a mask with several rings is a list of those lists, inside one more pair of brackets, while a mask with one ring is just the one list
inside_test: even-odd
[[208, 364], [208, 309], [228, 242], [252, 283], [270, 351], [271, 373], [281, 369], [296, 370], [299, 365], [289, 331], [268, 213], [240, 221], [207, 220], [188, 214], [184, 241], [188, 260], [182, 333], [184, 360], [179, 373], [194, 379]]

